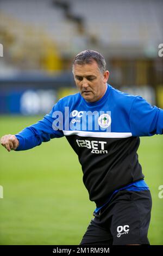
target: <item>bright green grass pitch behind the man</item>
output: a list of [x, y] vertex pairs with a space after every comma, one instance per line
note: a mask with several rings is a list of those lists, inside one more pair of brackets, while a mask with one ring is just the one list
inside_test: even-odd
[[[17, 133], [40, 117], [0, 117], [0, 137]], [[163, 136], [143, 137], [139, 160], [151, 188], [149, 240], [163, 245]], [[32, 150], [8, 153], [0, 147], [0, 245], [78, 245], [91, 221], [78, 157], [65, 138]]]

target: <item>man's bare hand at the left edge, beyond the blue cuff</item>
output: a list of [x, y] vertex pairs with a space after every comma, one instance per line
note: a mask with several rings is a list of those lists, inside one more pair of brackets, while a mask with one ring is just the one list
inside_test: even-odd
[[15, 135], [9, 134], [1, 137], [1, 145], [10, 152], [17, 149], [19, 142]]

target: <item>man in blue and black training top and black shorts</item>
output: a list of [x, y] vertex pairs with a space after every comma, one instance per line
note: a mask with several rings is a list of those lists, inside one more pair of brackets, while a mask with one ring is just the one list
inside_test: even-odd
[[97, 206], [80, 244], [148, 245], [152, 200], [136, 151], [139, 136], [163, 133], [163, 110], [107, 84], [109, 71], [98, 52], [79, 53], [73, 75], [79, 93], [60, 99], [17, 135], [3, 136], [1, 144], [27, 150], [66, 136]]

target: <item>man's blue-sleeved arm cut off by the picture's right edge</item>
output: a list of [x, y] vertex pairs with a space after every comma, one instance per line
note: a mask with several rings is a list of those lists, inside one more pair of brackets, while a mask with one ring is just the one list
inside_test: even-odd
[[130, 111], [130, 129], [133, 136], [163, 134], [163, 109], [137, 96]]

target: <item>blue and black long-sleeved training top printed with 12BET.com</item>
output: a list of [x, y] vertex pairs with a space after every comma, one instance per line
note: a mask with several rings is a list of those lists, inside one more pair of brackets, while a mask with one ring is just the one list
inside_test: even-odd
[[99, 208], [122, 188], [148, 189], [136, 153], [139, 137], [162, 133], [162, 109], [108, 84], [104, 96], [93, 103], [80, 93], [60, 99], [42, 120], [17, 133], [16, 150], [66, 136], [82, 165], [90, 200]]

